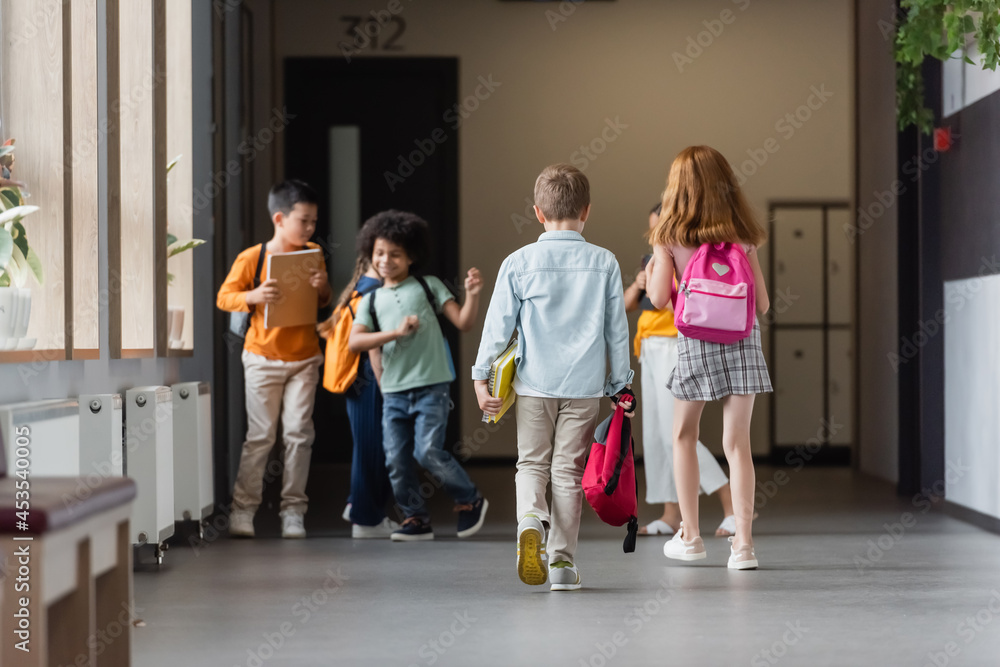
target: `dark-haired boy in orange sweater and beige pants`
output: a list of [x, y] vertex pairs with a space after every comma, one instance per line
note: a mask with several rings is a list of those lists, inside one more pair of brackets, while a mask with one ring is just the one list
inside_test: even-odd
[[[241, 252], [219, 289], [217, 305], [230, 312], [250, 312], [250, 329], [243, 346], [246, 380], [247, 437], [240, 455], [233, 488], [229, 534], [253, 537], [253, 517], [261, 502], [264, 467], [281, 418], [284, 478], [281, 487], [281, 536], [306, 536], [306, 480], [315, 430], [312, 423], [319, 365], [322, 360], [315, 324], [264, 328], [264, 307], [281, 298], [278, 281], [266, 276], [255, 286], [257, 267], [267, 265], [273, 253], [319, 248], [310, 243], [316, 231], [316, 193], [301, 181], [286, 181], [271, 188], [267, 207], [274, 223], [274, 237], [266, 244]], [[264, 258], [260, 257], [264, 252]], [[321, 260], [322, 261], [322, 260]], [[266, 269], [261, 275], [264, 277]], [[308, 284], [319, 293], [319, 304], [330, 303], [333, 293], [326, 267], [313, 271]], [[300, 289], [308, 289], [304, 285]]]

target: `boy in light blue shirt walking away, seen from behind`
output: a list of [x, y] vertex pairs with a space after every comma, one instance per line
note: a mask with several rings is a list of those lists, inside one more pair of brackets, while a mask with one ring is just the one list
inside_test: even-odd
[[548, 580], [551, 590], [566, 591], [580, 588], [581, 480], [600, 399], [617, 402], [633, 372], [618, 261], [582, 235], [587, 177], [568, 164], [547, 167], [535, 182], [535, 215], [545, 233], [501, 265], [472, 379], [479, 406], [497, 414], [502, 399], [489, 395], [490, 364], [516, 328], [517, 573], [526, 584]]

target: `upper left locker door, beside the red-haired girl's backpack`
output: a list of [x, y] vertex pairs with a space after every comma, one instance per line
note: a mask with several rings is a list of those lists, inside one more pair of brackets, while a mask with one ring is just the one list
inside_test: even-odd
[[775, 321], [823, 323], [823, 211], [774, 211], [774, 285], [769, 285]]

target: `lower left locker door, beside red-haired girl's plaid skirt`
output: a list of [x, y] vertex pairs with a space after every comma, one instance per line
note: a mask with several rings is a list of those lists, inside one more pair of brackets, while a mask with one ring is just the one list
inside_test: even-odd
[[823, 332], [774, 332], [774, 442], [805, 444], [822, 428]]

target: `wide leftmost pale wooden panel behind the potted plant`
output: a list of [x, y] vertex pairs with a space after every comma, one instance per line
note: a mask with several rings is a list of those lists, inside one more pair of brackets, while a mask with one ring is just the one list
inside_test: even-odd
[[[27, 338], [35, 350], [65, 354], [63, 15], [60, 5], [40, 11], [34, 2], [4, 0], [0, 63], [4, 118], [0, 134], [17, 140], [14, 177], [28, 184], [26, 202], [41, 207], [24, 220], [31, 248], [45, 273], [33, 278]], [[58, 359], [62, 355], [48, 355]]]

